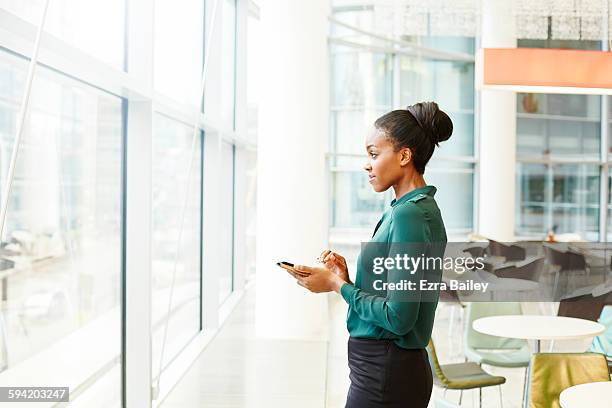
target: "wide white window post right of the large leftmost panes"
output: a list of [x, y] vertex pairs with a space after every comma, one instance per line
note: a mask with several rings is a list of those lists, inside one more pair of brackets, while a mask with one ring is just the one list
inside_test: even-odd
[[[129, 75], [153, 86], [153, 7], [129, 2]], [[131, 94], [127, 106], [125, 248], [125, 406], [148, 408], [151, 384], [151, 219], [153, 106]]]

